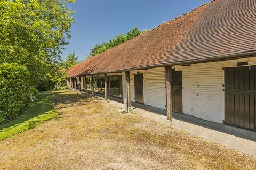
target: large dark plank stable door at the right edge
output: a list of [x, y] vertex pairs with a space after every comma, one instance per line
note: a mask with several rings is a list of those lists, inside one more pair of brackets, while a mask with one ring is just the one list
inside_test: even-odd
[[225, 120], [239, 128], [256, 129], [256, 66], [225, 68]]

